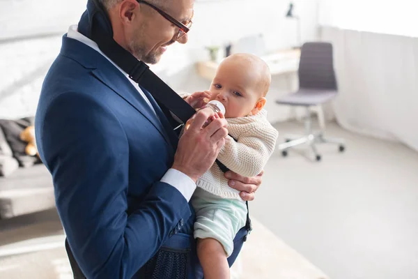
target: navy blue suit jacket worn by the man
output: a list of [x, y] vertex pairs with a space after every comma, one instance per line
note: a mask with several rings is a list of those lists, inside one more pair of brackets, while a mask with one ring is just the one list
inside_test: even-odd
[[42, 86], [36, 135], [88, 278], [132, 278], [173, 229], [192, 230], [186, 199], [160, 182], [177, 136], [151, 100], [160, 119], [104, 56], [63, 37]]

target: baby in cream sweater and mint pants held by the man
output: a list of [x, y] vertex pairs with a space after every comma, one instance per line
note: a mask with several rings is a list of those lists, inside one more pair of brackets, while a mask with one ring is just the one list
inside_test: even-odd
[[[229, 130], [217, 159], [242, 176], [259, 174], [274, 151], [278, 133], [263, 110], [270, 82], [262, 59], [233, 54], [220, 63], [210, 84], [210, 100], [224, 105]], [[235, 234], [245, 226], [247, 206], [216, 163], [196, 184], [194, 238], [204, 277], [230, 278], [227, 257], [233, 252]]]

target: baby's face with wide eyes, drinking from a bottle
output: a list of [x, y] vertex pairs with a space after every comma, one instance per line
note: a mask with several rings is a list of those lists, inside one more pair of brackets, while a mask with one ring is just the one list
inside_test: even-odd
[[258, 86], [256, 67], [242, 61], [224, 61], [219, 65], [210, 84], [210, 100], [219, 100], [226, 110], [226, 118], [248, 116], [263, 92]]

